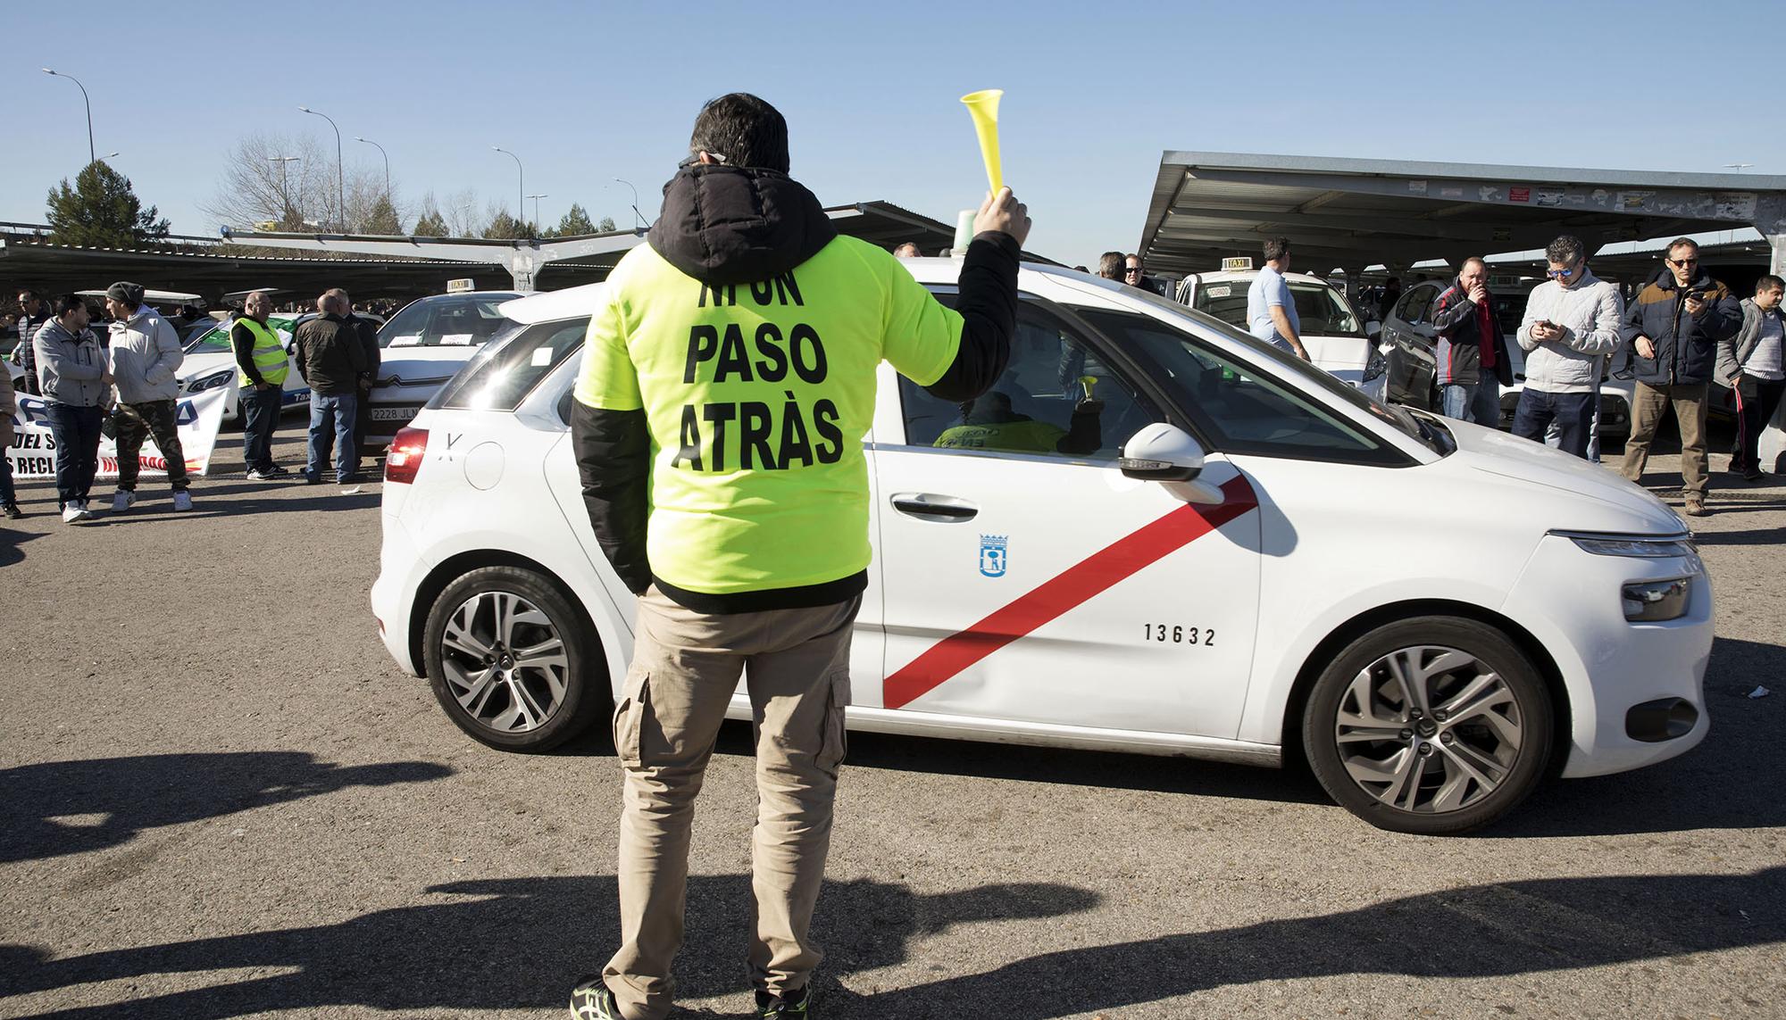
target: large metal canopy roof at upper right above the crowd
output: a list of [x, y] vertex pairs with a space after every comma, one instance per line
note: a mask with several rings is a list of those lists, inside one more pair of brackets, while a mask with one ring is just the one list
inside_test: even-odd
[[1288, 237], [1298, 267], [1363, 269], [1731, 226], [1786, 234], [1786, 177], [1164, 152], [1138, 251], [1184, 275]]

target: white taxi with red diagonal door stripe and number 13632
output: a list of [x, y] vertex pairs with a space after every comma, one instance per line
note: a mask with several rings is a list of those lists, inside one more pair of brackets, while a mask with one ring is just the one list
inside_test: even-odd
[[[957, 260], [900, 264], [954, 300]], [[1643, 489], [1377, 403], [1132, 287], [1041, 266], [1018, 287], [984, 407], [880, 366], [850, 728], [1300, 754], [1340, 804], [1411, 833], [1479, 827], [1547, 776], [1706, 736], [1711, 583]], [[505, 303], [504, 339], [386, 460], [379, 633], [493, 747], [607, 719], [627, 672], [634, 599], [589, 528], [566, 424], [602, 289]], [[1079, 351], [1095, 383], [1063, 382]], [[1077, 385], [1102, 399], [1097, 449], [938, 446], [975, 408], [1064, 432]], [[741, 692], [729, 715], [750, 717]]]

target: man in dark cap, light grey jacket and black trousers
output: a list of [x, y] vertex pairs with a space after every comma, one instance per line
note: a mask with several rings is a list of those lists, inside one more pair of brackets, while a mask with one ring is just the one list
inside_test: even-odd
[[107, 358], [118, 387], [118, 494], [113, 496], [113, 512], [121, 514], [136, 503], [136, 478], [143, 467], [139, 455], [146, 437], [155, 439], [155, 449], [168, 462], [173, 508], [191, 510], [186, 449], [180, 448], [177, 426], [180, 387], [173, 380], [186, 357], [180, 335], [143, 303], [143, 287], [138, 284], [107, 287], [105, 310], [113, 317]]

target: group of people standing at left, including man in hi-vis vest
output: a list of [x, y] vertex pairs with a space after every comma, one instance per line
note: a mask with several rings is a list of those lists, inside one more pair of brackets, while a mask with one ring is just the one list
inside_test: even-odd
[[[66, 524], [93, 521], [93, 481], [98, 449], [113, 437], [118, 451], [118, 487], [111, 510], [123, 514], [138, 501], [143, 444], [154, 440], [166, 465], [173, 510], [193, 508], [191, 476], [179, 433], [179, 380], [184, 360], [180, 335], [170, 316], [143, 301], [143, 287], [120, 282], [105, 291], [104, 332], [95, 330], [80, 294], [45, 300], [34, 291], [18, 294], [21, 341], [13, 351], [25, 369], [20, 389], [43, 399], [43, 414], [55, 444], [55, 505]], [[279, 480], [291, 471], [273, 460], [273, 433], [284, 408], [284, 383], [298, 371], [311, 391], [311, 430], [305, 483], [320, 485], [330, 474], [338, 485], [361, 481], [359, 437], [364, 396], [379, 373], [379, 330], [354, 314], [343, 289], [316, 300], [318, 316], [298, 325], [291, 358], [279, 333], [268, 325], [273, 303], [252, 292], [241, 316], [230, 323], [243, 414], [243, 464], [250, 480]], [[4, 446], [13, 444], [18, 401], [11, 373], [0, 373]], [[0, 512], [23, 517], [11, 462], [0, 457]]]

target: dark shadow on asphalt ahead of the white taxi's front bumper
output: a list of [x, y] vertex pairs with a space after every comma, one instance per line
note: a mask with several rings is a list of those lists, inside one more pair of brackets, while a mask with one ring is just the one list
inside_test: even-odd
[[[1615, 836], [1786, 826], [1786, 756], [1779, 731], [1786, 690], [1752, 699], [1757, 679], [1786, 676], [1786, 647], [1736, 638], [1711, 644], [1706, 712], [1711, 733], [1681, 758], [1593, 779], [1559, 779], [1477, 836]], [[1745, 678], [1732, 681], [1725, 678]], [[1779, 685], [1786, 688], [1786, 683]]]

